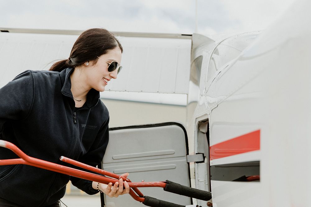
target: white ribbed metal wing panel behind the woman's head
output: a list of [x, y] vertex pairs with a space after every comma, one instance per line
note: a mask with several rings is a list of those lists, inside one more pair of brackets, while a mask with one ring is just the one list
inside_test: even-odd
[[[48, 70], [67, 59], [77, 35], [0, 33], [0, 87], [25, 70]], [[188, 93], [191, 40], [118, 37], [122, 72], [111, 91]]]

